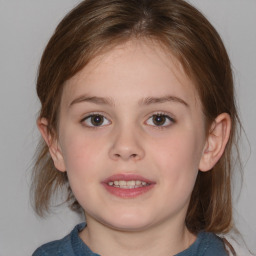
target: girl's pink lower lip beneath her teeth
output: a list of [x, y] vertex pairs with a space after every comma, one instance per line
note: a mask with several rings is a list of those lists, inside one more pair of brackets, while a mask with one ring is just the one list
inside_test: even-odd
[[124, 188], [109, 186], [106, 183], [102, 183], [102, 184], [109, 193], [120, 198], [135, 198], [142, 194], [145, 194], [146, 192], [148, 192], [154, 187], [154, 184], [150, 184], [144, 187], [124, 189]]

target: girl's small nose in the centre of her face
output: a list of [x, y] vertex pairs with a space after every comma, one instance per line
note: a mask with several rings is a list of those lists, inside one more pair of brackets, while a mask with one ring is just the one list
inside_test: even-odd
[[131, 127], [120, 129], [111, 138], [111, 148], [109, 157], [113, 160], [141, 160], [145, 156], [145, 151], [141, 143], [141, 136]]

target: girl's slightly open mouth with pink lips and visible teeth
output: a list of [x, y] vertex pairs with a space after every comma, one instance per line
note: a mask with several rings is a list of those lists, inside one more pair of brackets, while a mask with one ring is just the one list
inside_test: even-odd
[[155, 184], [153, 181], [134, 174], [113, 175], [102, 182], [109, 193], [121, 198], [138, 197], [151, 190]]

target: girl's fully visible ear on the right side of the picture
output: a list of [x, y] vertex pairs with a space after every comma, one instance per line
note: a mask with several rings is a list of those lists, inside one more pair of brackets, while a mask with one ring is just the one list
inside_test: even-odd
[[211, 170], [221, 158], [227, 145], [231, 130], [229, 114], [222, 113], [214, 120], [206, 139], [203, 154], [199, 163], [199, 170], [206, 172]]

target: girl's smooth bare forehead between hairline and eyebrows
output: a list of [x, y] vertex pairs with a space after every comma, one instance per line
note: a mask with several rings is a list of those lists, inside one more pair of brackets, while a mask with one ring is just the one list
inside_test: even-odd
[[170, 50], [156, 41], [130, 40], [93, 58], [69, 79], [63, 101], [85, 92], [118, 98], [124, 87], [137, 92], [134, 100], [144, 92], [153, 94], [145, 96], [163, 96], [166, 85], [170, 94], [198, 102], [193, 82]]

